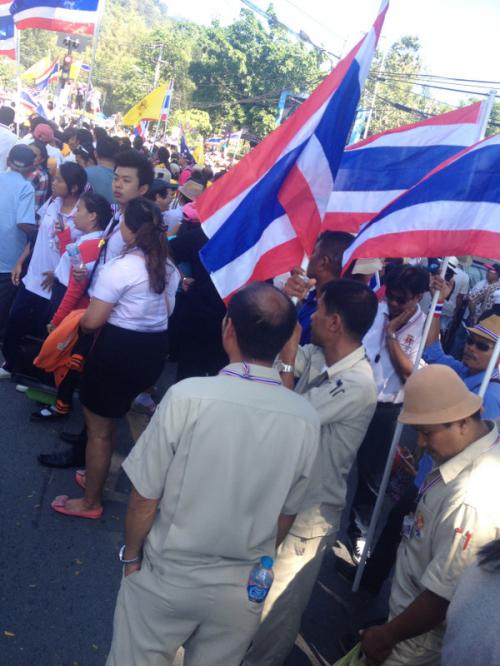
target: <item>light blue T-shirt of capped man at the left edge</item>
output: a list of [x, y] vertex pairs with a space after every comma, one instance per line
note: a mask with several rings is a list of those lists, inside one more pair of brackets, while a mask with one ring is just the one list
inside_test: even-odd
[[27, 243], [19, 224], [35, 226], [35, 190], [17, 171], [0, 173], [0, 273], [10, 273]]

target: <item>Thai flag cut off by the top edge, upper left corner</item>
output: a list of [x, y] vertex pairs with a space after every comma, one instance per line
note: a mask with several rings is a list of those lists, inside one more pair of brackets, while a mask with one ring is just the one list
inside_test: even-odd
[[19, 30], [41, 28], [93, 35], [99, 0], [14, 0], [10, 12]]

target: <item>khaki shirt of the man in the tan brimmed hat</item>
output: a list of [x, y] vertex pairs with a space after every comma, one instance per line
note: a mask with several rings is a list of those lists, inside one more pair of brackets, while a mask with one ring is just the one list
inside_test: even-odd
[[391, 617], [425, 590], [450, 600], [478, 549], [500, 536], [500, 439], [495, 424], [486, 423], [486, 436], [429, 474], [412, 523], [405, 519]]

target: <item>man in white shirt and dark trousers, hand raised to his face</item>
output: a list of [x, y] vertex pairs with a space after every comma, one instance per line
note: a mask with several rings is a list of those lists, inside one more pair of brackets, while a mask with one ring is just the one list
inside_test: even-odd
[[377, 408], [358, 452], [358, 486], [348, 535], [359, 560], [396, 427], [404, 384], [411, 375], [425, 315], [419, 307], [429, 287], [421, 266], [400, 264], [387, 274], [386, 297], [363, 343], [377, 384]]

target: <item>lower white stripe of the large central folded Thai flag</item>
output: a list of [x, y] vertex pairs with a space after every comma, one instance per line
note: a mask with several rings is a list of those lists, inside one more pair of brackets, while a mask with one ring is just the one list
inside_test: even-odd
[[296, 234], [287, 215], [273, 220], [255, 245], [210, 274], [221, 298], [226, 298], [246, 284], [262, 255], [294, 238]]

